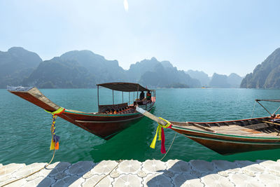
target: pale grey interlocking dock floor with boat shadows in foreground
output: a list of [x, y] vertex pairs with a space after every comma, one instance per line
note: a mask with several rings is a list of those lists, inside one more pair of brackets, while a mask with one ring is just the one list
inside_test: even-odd
[[[0, 164], [0, 186], [30, 174], [45, 163]], [[101, 181], [100, 181], [101, 180]], [[97, 182], [99, 182], [97, 184]], [[103, 160], [55, 162], [6, 186], [278, 186], [280, 160]]]

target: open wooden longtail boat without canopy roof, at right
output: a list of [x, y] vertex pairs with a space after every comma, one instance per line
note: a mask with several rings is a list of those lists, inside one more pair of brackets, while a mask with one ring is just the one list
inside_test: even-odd
[[[280, 102], [278, 99], [255, 99], [255, 101], [258, 104], [260, 101]], [[265, 109], [264, 106], [262, 107]], [[276, 111], [279, 109], [280, 106]], [[169, 128], [221, 155], [280, 148], [280, 119], [276, 118], [276, 111], [270, 113], [267, 109], [265, 110], [270, 116], [216, 122], [170, 120], [171, 127]], [[139, 108], [137, 111], [162, 126], [167, 125], [165, 120], [153, 116], [148, 111]]]

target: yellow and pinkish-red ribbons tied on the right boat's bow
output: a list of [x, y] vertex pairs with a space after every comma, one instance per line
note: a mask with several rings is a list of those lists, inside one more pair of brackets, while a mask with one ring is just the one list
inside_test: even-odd
[[165, 131], [163, 130], [163, 128], [171, 128], [172, 124], [168, 120], [165, 120], [164, 118], [160, 118], [160, 119], [167, 122], [167, 125], [161, 125], [160, 123], [158, 123], [157, 132], [155, 132], [155, 137], [153, 138], [150, 147], [155, 148], [155, 142], [157, 141], [157, 137], [158, 137], [158, 140], [162, 141], [162, 147], [160, 148], [160, 152], [164, 154], [166, 153], [166, 150], [165, 150]]

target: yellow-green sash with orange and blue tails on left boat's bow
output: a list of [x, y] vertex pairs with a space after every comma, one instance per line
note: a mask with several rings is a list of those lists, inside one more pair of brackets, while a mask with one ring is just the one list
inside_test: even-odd
[[55, 134], [55, 120], [57, 118], [57, 115], [63, 113], [64, 111], [65, 109], [62, 107], [60, 107], [57, 111], [53, 111], [53, 112], [47, 111], [48, 113], [52, 114], [52, 126], [50, 127], [50, 132], [52, 132], [52, 140], [50, 142], [50, 150], [59, 149], [59, 136]]

